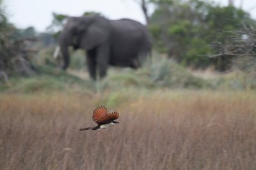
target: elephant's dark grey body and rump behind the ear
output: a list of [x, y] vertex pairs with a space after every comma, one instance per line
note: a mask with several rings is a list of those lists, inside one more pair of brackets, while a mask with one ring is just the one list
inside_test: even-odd
[[111, 20], [113, 34], [111, 36], [110, 64], [132, 66], [140, 53], [150, 51], [150, 38], [147, 28], [131, 19]]

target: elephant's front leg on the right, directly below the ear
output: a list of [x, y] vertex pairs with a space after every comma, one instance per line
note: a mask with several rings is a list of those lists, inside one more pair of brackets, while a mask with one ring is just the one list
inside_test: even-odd
[[97, 49], [97, 67], [99, 69], [100, 80], [107, 75], [109, 63], [109, 45], [99, 46]]

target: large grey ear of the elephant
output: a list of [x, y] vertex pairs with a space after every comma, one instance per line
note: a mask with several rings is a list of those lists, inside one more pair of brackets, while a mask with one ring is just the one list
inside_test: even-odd
[[96, 46], [108, 42], [111, 32], [108, 20], [101, 17], [94, 18], [90, 25], [84, 30], [81, 36], [81, 46], [86, 50], [91, 50]]

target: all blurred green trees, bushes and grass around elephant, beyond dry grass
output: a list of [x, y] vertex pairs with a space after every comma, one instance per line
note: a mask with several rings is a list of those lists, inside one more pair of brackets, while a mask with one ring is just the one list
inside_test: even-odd
[[[152, 37], [152, 62], [141, 69], [111, 68], [104, 90], [256, 89], [255, 20], [232, 4], [201, 0], [141, 1]], [[52, 55], [67, 15], [52, 13], [45, 32], [19, 29], [0, 1], [0, 91], [79, 90], [93, 92], [84, 52], [73, 51], [67, 72]], [[144, 4], [143, 4], [144, 3]], [[151, 15], [147, 5], [154, 6]], [[83, 15], [99, 14], [84, 11]], [[99, 14], [101, 15], [101, 14]], [[115, 98], [115, 96], [114, 96]]]

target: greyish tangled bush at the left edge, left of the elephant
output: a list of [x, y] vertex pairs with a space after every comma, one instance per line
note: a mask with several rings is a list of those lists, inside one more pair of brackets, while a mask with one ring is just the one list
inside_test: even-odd
[[31, 60], [24, 49], [20, 30], [8, 22], [0, 1], [0, 80], [8, 81], [13, 73], [32, 74]]

